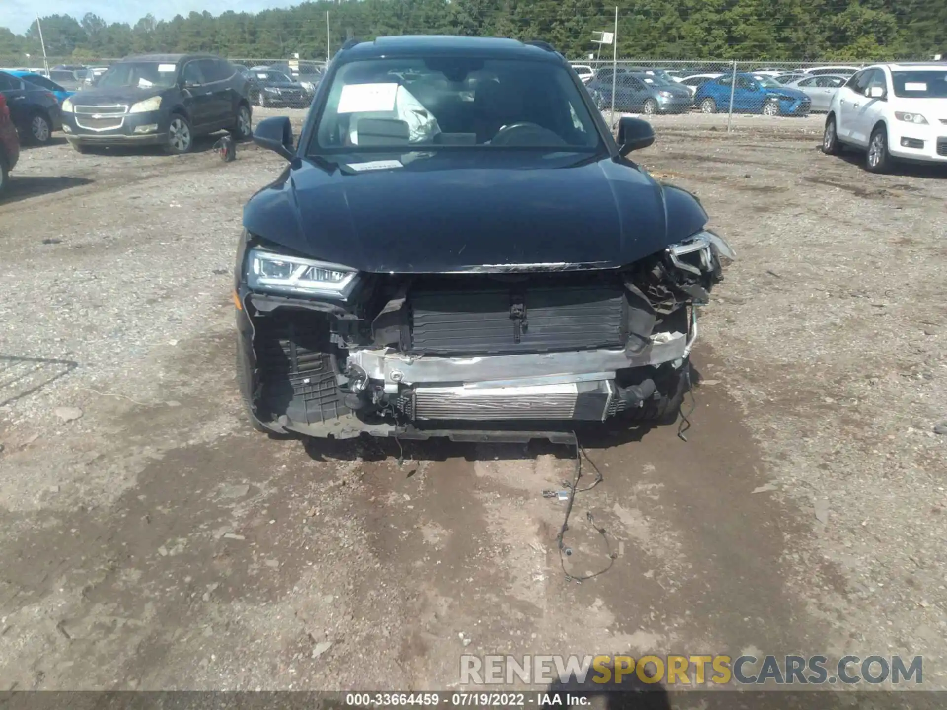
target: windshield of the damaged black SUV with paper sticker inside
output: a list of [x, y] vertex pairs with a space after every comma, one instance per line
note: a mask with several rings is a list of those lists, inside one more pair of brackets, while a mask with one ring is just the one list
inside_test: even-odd
[[562, 65], [452, 57], [342, 64], [310, 154], [405, 146], [595, 151], [596, 124]]

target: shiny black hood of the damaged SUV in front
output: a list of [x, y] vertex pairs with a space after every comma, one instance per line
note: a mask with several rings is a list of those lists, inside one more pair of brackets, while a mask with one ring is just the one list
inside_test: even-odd
[[621, 159], [530, 151], [364, 171], [297, 160], [243, 210], [247, 231], [275, 246], [376, 273], [614, 268], [705, 223], [688, 192]]

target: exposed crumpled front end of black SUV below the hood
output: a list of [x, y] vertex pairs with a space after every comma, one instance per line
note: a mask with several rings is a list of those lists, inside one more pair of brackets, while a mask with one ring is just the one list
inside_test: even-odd
[[726, 243], [701, 232], [625, 269], [523, 264], [358, 275], [338, 298], [241, 282], [241, 382], [277, 432], [548, 435], [680, 389]]

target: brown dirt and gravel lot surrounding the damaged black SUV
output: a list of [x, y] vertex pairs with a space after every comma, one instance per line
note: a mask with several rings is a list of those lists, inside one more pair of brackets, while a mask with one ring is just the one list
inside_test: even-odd
[[655, 119], [640, 159], [741, 258], [688, 441], [585, 442], [604, 482], [565, 564], [608, 561], [586, 511], [617, 558], [581, 585], [541, 497], [566, 449], [399, 465], [244, 425], [230, 271], [277, 156], [25, 151], [0, 204], [3, 689], [442, 689], [461, 653], [743, 651], [920, 654], [944, 687], [947, 172], [869, 175], [817, 151], [818, 118], [702, 120]]

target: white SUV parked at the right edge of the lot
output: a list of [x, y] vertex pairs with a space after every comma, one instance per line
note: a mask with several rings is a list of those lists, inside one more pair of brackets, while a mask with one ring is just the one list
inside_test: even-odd
[[866, 151], [866, 167], [892, 159], [947, 163], [947, 62], [875, 64], [835, 92], [822, 151]]

